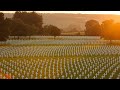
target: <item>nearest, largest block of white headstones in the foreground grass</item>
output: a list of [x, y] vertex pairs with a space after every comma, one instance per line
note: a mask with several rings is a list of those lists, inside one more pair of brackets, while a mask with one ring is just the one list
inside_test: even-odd
[[11, 73], [12, 78], [106, 78], [110, 72], [107, 78], [112, 78], [116, 72], [120, 73], [120, 57], [89, 58], [90, 61], [86, 58], [13, 60], [16, 64], [12, 60], [1, 60], [0, 67], [3, 73]]

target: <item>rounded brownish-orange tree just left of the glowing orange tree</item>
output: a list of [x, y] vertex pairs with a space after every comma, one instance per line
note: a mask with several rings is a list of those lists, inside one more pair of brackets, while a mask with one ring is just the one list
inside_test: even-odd
[[87, 21], [85, 27], [85, 33], [87, 36], [99, 36], [101, 34], [100, 24], [96, 20]]

